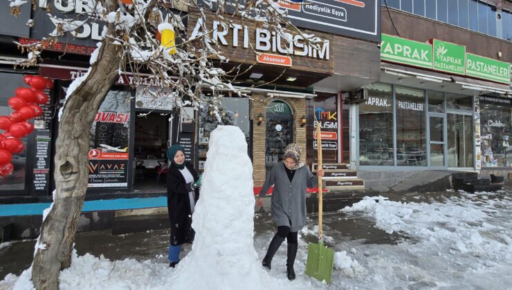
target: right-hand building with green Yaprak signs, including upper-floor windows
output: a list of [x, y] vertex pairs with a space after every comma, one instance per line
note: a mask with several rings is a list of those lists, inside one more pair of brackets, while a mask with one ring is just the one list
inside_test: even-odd
[[381, 5], [380, 80], [351, 102], [358, 174], [368, 187], [426, 170], [508, 176], [512, 3]]

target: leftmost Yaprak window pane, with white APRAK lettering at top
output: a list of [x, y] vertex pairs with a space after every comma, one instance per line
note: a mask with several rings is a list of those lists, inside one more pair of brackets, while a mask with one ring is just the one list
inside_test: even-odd
[[392, 166], [392, 86], [377, 83], [367, 88], [368, 100], [359, 105], [359, 164]]

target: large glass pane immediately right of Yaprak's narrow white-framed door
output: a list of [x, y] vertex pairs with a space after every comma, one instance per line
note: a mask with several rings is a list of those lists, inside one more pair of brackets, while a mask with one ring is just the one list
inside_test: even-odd
[[473, 167], [473, 116], [449, 113], [447, 123], [448, 167]]

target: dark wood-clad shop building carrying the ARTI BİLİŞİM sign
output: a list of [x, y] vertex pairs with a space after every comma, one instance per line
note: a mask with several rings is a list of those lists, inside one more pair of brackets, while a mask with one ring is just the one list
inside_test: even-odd
[[[48, 3], [57, 17], [72, 18], [80, 12], [60, 1]], [[212, 35], [215, 45], [230, 59], [223, 68], [244, 71], [234, 80], [241, 95], [226, 92], [219, 112], [212, 112], [208, 106], [199, 110], [176, 108], [168, 99], [152, 99], [147, 90], [161, 90], [161, 86], [151, 75], [137, 80], [130, 72], [122, 72], [88, 132], [91, 138], [86, 198], [165, 194], [163, 168], [168, 146], [183, 145], [188, 160], [202, 171], [209, 134], [219, 124], [239, 126], [246, 135], [256, 188], [272, 166], [282, 160], [286, 144], [300, 144], [304, 148], [303, 161], [308, 165], [316, 162], [316, 122], [326, 134], [326, 160], [348, 162], [349, 104], [343, 101], [341, 92], [378, 81], [380, 3], [372, 0], [363, 6], [340, 1], [328, 4], [305, 7], [282, 3], [296, 26], [320, 37], [320, 49], [305, 45], [298, 35], [293, 36], [294, 45], [287, 46], [279, 35], [256, 23], [208, 19], [208, 27], [217, 27], [217, 33]], [[325, 9], [327, 6], [331, 9]], [[20, 70], [12, 66], [23, 58], [12, 41], [30, 43], [55, 29], [39, 3], [34, 11], [29, 6], [22, 9], [16, 23], [19, 29], [0, 31], [3, 43], [8, 43], [0, 57], [0, 81], [6, 88], [1, 95], [2, 113], [10, 113], [6, 104], [9, 92], [23, 86], [24, 74], [53, 79], [55, 87], [48, 92], [51, 101], [44, 117], [35, 120], [36, 131], [27, 137], [26, 152], [16, 157], [15, 173], [0, 180], [0, 197], [8, 202], [37, 202], [51, 197], [59, 110], [71, 81], [86, 73], [102, 25], [91, 22], [77, 35], [66, 32], [57, 42], [48, 44], [42, 64]], [[334, 12], [338, 18], [333, 17]], [[8, 11], [2, 13], [2, 21], [12, 18]], [[183, 31], [187, 37], [200, 29], [199, 13], [186, 6], [175, 5], [162, 13], [163, 19], [166, 13], [187, 15]], [[30, 15], [38, 23], [33, 28], [25, 25]], [[12, 23], [5, 22], [3, 27], [8, 26]], [[226, 31], [219, 32], [224, 28]], [[203, 94], [208, 99], [209, 92]], [[216, 113], [220, 113], [220, 121]]]

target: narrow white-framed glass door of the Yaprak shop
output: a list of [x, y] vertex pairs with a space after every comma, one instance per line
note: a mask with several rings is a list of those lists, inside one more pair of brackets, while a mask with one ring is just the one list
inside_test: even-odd
[[445, 148], [446, 137], [444, 128], [446, 117], [444, 115], [430, 115], [430, 140], [429, 140], [429, 166], [446, 166]]

